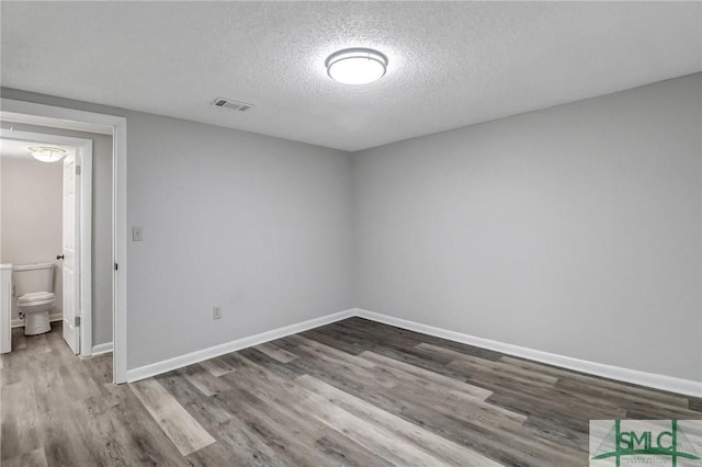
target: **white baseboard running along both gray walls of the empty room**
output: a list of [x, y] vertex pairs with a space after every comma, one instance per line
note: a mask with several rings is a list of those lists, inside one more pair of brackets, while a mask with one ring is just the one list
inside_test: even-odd
[[[231, 342], [226, 342], [224, 344], [215, 345], [208, 349], [203, 349], [185, 355], [165, 360], [162, 362], [127, 369], [127, 381], [132, 383], [139, 379], [148, 378], [150, 376], [159, 375], [172, 369], [178, 369], [183, 366], [192, 365], [194, 363], [199, 363], [208, 358], [214, 358], [215, 356], [224, 355], [229, 352], [236, 352], [253, 345], [262, 344], [264, 342], [273, 341], [275, 339], [284, 338], [285, 335], [296, 334], [298, 332], [307, 331], [309, 329], [318, 328], [320, 326], [329, 324], [342, 319], [352, 318], [354, 316], [365, 318], [371, 321], [394, 326], [396, 328], [421, 332], [423, 334], [446, 339], [449, 341], [461, 342], [468, 345], [475, 345], [482, 349], [489, 349], [508, 355], [514, 355], [522, 358], [546, 363], [548, 365], [555, 365], [563, 368], [574, 369], [576, 372], [582, 372], [595, 376], [601, 376], [604, 378], [616, 379], [620, 381], [632, 383], [656, 389], [663, 389], [670, 392], [702, 397], [702, 381], [693, 381], [690, 379], [676, 378], [672, 376], [658, 375], [655, 373], [646, 373], [637, 369], [623, 368], [620, 366], [605, 365], [602, 363], [573, 358], [569, 356], [522, 348], [519, 345], [507, 344], [503, 342], [483, 339], [471, 334], [464, 334], [461, 332], [449, 331], [446, 329], [422, 324], [420, 322], [408, 321], [406, 319], [395, 318], [388, 315], [382, 315], [360, 308], [352, 308], [346, 311], [327, 315], [320, 318], [303, 321], [297, 324], [291, 324], [248, 338], [237, 339]], [[110, 345], [110, 350], [112, 350], [111, 343], [102, 345]], [[93, 348], [93, 355], [98, 353], [95, 349], [100, 346], [101, 345]], [[104, 350], [104, 352], [109, 351]]]

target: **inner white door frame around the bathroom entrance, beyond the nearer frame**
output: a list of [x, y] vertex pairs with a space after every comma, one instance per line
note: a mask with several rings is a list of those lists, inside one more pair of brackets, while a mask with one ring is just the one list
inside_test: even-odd
[[78, 258], [80, 296], [78, 300], [80, 326], [80, 355], [92, 355], [92, 139], [73, 138], [45, 133], [18, 132], [0, 128], [2, 139], [46, 143], [76, 148], [76, 163], [81, 167], [79, 212], [80, 231], [77, 232], [80, 251]]

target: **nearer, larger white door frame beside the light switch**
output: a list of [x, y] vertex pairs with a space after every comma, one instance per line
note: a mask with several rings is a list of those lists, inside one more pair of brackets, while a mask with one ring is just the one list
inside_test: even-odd
[[[84, 112], [33, 102], [0, 99], [0, 119], [55, 128], [112, 135], [112, 343], [113, 377], [126, 383], [127, 373], [127, 119], [122, 116]], [[117, 269], [118, 264], [118, 269]]]

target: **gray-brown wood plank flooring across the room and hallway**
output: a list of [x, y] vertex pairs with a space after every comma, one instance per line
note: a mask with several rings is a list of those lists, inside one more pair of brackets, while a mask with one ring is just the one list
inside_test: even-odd
[[0, 358], [2, 466], [588, 465], [590, 419], [702, 400], [351, 318], [131, 385], [52, 332]]

